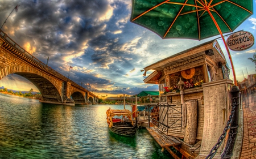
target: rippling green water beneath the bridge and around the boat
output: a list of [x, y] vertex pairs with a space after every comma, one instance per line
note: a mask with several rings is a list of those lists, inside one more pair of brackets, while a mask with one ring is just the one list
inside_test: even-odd
[[133, 137], [110, 132], [109, 108], [123, 106], [42, 104], [0, 93], [0, 158], [171, 158], [146, 129]]

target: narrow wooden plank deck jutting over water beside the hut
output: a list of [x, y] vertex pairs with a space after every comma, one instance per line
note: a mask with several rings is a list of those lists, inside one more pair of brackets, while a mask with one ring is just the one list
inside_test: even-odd
[[162, 148], [181, 144], [180, 141], [176, 140], [174, 137], [163, 134], [163, 132], [159, 131], [156, 127], [147, 127], [147, 131]]

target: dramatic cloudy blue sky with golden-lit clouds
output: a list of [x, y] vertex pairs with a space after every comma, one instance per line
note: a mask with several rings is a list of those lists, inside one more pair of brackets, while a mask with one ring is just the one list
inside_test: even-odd
[[[155, 33], [130, 22], [130, 0], [0, 0], [1, 25], [16, 5], [19, 5], [18, 12], [12, 12], [2, 31], [43, 63], [47, 63], [49, 57], [48, 66], [60, 74], [68, 77], [72, 66], [69, 79], [96, 95], [158, 91], [158, 85], [144, 84], [146, 76], [140, 70], [219, 37], [201, 41], [162, 40]], [[254, 0], [254, 13], [255, 6]], [[241, 30], [256, 37], [255, 14], [235, 31]], [[221, 38], [218, 42], [229, 63]], [[255, 44], [244, 51], [231, 51], [238, 81], [243, 80], [243, 74], [246, 77], [255, 74], [254, 63], [247, 59], [255, 52]], [[230, 76], [233, 78], [232, 71]], [[20, 88], [21, 85], [24, 88]], [[17, 75], [0, 80], [1, 86], [36, 89]]]

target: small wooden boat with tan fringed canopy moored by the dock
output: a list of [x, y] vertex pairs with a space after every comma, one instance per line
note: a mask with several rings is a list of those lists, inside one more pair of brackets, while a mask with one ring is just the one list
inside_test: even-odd
[[[115, 134], [134, 136], [137, 132], [137, 117], [133, 120], [132, 113], [127, 109], [108, 109], [106, 111], [109, 130]], [[114, 118], [122, 117], [122, 118]]]

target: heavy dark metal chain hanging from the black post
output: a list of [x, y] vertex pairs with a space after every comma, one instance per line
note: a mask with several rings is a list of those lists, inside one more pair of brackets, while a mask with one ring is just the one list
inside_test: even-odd
[[213, 158], [214, 157], [214, 155], [217, 153], [217, 150], [218, 150], [218, 148], [220, 147], [220, 145], [222, 144], [222, 141], [224, 141], [223, 139], [225, 139], [225, 137], [226, 137], [226, 132], [229, 130], [229, 128], [230, 128], [230, 123], [232, 123], [232, 119], [233, 119], [233, 117], [234, 117], [234, 111], [235, 111], [235, 108], [236, 108], [236, 98], [237, 97], [234, 97], [233, 98], [233, 105], [232, 105], [232, 110], [231, 110], [231, 114], [229, 115], [229, 120], [228, 120], [228, 122], [226, 122], [226, 127], [224, 128], [224, 130], [223, 130], [223, 132], [222, 132], [222, 134], [221, 134], [221, 136], [220, 136], [220, 138], [218, 139], [218, 142], [214, 145], [214, 147], [212, 148], [212, 150], [210, 151], [210, 153], [208, 154], [208, 156], [205, 158], [205, 159], [207, 159], [207, 158]]

